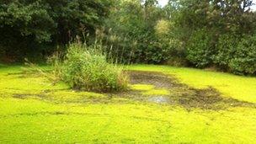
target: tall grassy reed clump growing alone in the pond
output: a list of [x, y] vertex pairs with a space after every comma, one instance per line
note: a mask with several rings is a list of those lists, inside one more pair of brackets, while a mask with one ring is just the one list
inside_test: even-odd
[[128, 78], [122, 72], [122, 68], [108, 63], [106, 56], [95, 49], [97, 46], [77, 43], [70, 45], [64, 61], [61, 65], [56, 65], [59, 67], [56, 70], [61, 69], [56, 74], [76, 89], [96, 92], [124, 90], [127, 88]]

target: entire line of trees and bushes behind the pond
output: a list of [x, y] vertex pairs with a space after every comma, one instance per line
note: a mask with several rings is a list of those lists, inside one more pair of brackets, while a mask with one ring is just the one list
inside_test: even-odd
[[[215, 67], [256, 74], [252, 0], [3, 0], [2, 61], [97, 41], [122, 63]], [[63, 49], [64, 48], [64, 49]]]

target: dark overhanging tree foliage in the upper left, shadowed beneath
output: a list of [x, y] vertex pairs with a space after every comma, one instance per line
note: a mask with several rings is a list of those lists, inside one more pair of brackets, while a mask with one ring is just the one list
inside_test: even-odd
[[108, 14], [109, 4], [108, 0], [1, 1], [1, 53], [13, 59], [49, 55], [56, 45], [93, 34]]

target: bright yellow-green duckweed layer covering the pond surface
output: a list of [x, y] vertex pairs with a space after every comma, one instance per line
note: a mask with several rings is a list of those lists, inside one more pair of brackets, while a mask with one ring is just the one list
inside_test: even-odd
[[[223, 97], [256, 103], [253, 77], [163, 66], [136, 65], [127, 69], [168, 73], [191, 87], [211, 86]], [[106, 94], [72, 91], [64, 83], [52, 86], [44, 77], [20, 72], [21, 66], [0, 65], [0, 143], [256, 141], [254, 108], [188, 110], [123, 97], [109, 99]], [[152, 90], [145, 85], [135, 88]]]

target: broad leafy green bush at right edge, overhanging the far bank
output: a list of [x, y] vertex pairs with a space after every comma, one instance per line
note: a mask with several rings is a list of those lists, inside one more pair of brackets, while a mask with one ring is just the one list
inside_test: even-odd
[[222, 68], [236, 74], [255, 74], [256, 37], [253, 35], [221, 35], [214, 61]]

